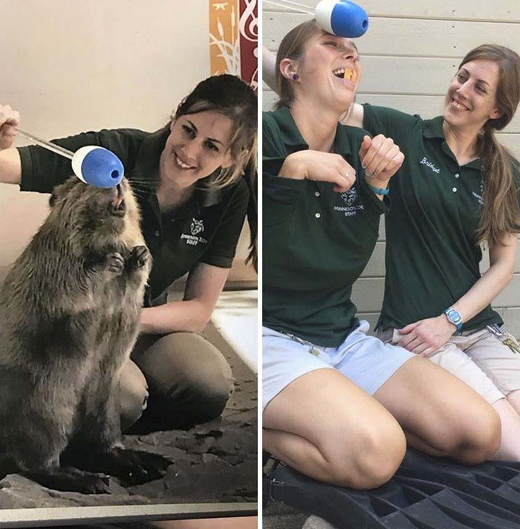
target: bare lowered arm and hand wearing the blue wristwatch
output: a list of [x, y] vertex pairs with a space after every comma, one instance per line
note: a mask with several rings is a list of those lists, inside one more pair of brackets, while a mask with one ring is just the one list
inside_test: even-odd
[[[474, 315], [485, 309], [510, 283], [517, 253], [516, 234], [505, 236], [503, 243], [504, 245], [489, 247], [489, 269], [452, 305], [462, 316], [462, 322], [471, 320]], [[406, 336], [399, 341], [399, 345], [420, 356], [429, 356], [444, 345], [455, 331], [455, 325], [448, 321], [446, 315], [441, 314], [436, 318], [419, 320], [401, 329], [399, 332]]]

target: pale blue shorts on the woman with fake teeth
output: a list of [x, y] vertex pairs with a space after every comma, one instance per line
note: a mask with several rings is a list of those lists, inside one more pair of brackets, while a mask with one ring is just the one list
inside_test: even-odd
[[323, 368], [338, 370], [367, 393], [374, 394], [415, 354], [367, 336], [369, 327], [368, 322], [361, 320], [359, 327], [339, 347], [302, 344], [284, 333], [263, 327], [263, 409], [299, 376]]

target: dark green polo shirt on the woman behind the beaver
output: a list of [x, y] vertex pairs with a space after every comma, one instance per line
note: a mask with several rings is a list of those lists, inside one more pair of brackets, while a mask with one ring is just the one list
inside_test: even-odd
[[[169, 128], [149, 133], [134, 129], [101, 130], [55, 140], [76, 151], [85, 145], [112, 150], [123, 162], [141, 209], [141, 229], [153, 257], [145, 296], [165, 302], [165, 290], [197, 263], [230, 268], [242, 229], [249, 191], [243, 179], [220, 190], [200, 180], [189, 203], [174, 215], [162, 216], [155, 189], [159, 182], [159, 157]], [[50, 193], [71, 176], [71, 162], [37, 146], [19, 148], [22, 191]], [[209, 180], [209, 179], [208, 179]], [[158, 298], [158, 299], [157, 299]]]

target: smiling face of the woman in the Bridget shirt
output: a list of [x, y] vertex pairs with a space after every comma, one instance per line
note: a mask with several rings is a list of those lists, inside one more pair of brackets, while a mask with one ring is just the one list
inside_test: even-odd
[[451, 81], [444, 101], [444, 120], [453, 126], [480, 130], [488, 119], [502, 112], [496, 106], [499, 65], [491, 60], [472, 60], [463, 64]]

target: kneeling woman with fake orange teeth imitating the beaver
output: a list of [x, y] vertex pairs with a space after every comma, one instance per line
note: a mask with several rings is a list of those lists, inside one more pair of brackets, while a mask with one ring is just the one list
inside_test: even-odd
[[[263, 447], [313, 478], [388, 480], [410, 446], [469, 464], [499, 448], [498, 415], [455, 376], [367, 336], [352, 284], [403, 155], [338, 125], [361, 69], [314, 21], [281, 42], [281, 100], [263, 118]], [[380, 159], [377, 174], [363, 167]]]

